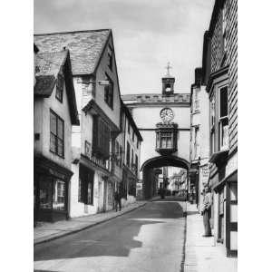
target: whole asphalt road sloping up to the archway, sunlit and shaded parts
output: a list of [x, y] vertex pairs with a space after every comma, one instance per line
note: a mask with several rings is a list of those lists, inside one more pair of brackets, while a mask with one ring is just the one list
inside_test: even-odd
[[149, 202], [119, 218], [34, 247], [34, 271], [180, 272], [184, 202]]

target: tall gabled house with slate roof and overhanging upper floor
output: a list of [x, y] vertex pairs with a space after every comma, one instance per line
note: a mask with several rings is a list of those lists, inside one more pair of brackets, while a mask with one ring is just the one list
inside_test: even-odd
[[[81, 125], [73, 127], [69, 216], [113, 209], [121, 184], [121, 95], [110, 29], [36, 34], [44, 51], [69, 48]], [[117, 144], [118, 143], [118, 144]]]

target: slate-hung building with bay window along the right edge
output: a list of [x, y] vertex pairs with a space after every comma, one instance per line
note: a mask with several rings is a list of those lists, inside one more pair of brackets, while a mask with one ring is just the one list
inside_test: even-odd
[[238, 3], [217, 0], [204, 34], [203, 84], [209, 93], [209, 184], [214, 233], [227, 256], [238, 245]]

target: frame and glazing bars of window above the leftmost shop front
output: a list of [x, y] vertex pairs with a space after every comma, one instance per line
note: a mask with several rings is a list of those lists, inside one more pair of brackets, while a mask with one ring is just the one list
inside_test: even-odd
[[[52, 122], [51, 122], [51, 116], [52, 115], [54, 115], [55, 120], [56, 120], [56, 131], [55, 131], [56, 134], [54, 134], [54, 132], [52, 131]], [[49, 150], [53, 154], [55, 154], [55, 155], [57, 155], [57, 156], [64, 159], [64, 152], [65, 152], [65, 147], [64, 147], [64, 143], [65, 143], [65, 141], [64, 141], [64, 138], [65, 138], [64, 137], [64, 125], [65, 125], [65, 123], [64, 123], [64, 120], [56, 112], [53, 112], [52, 109], [50, 109], [49, 116], [50, 116], [50, 118], [49, 118], [49, 122], [50, 122], [50, 124], [49, 124], [49, 127], [50, 127]], [[59, 137], [59, 121], [61, 121], [63, 123], [63, 132], [62, 132], [63, 133], [63, 139]], [[54, 138], [54, 150], [52, 149], [52, 145], [51, 145], [52, 144], [52, 141], [51, 141], [52, 137]], [[62, 143], [63, 143], [63, 154], [61, 154], [59, 152], [59, 141], [62, 141]]]

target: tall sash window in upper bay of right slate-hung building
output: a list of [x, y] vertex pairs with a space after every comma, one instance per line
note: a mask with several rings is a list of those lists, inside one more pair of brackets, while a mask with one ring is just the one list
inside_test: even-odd
[[219, 147], [228, 149], [228, 86], [219, 89]]

